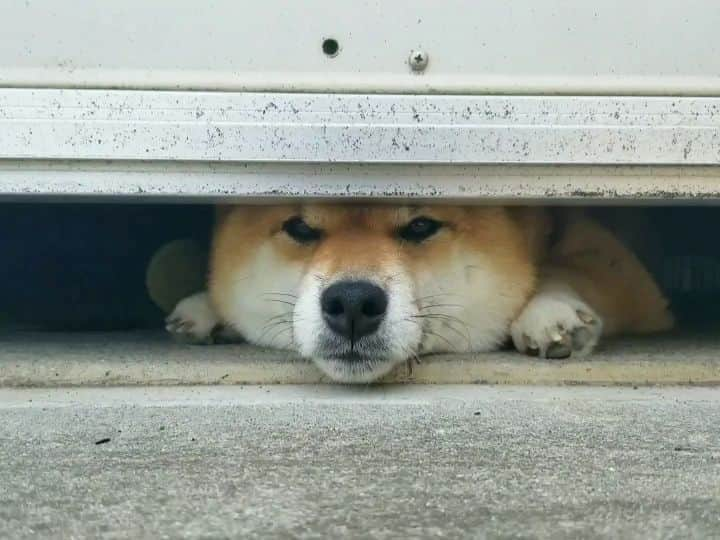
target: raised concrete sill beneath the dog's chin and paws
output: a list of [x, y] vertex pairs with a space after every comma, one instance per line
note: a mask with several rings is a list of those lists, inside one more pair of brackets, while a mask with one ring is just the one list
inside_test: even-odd
[[[398, 366], [383, 383], [507, 385], [717, 385], [713, 334], [609, 341], [578, 360], [514, 352], [448, 354]], [[0, 336], [0, 387], [317, 384], [330, 382], [295, 355], [248, 345], [192, 346], [158, 332]]]

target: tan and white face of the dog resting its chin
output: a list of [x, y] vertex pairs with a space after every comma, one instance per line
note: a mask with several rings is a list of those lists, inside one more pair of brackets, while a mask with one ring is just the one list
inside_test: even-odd
[[210, 292], [251, 343], [371, 381], [420, 354], [501, 344], [534, 285], [526, 228], [504, 208], [233, 207]]

